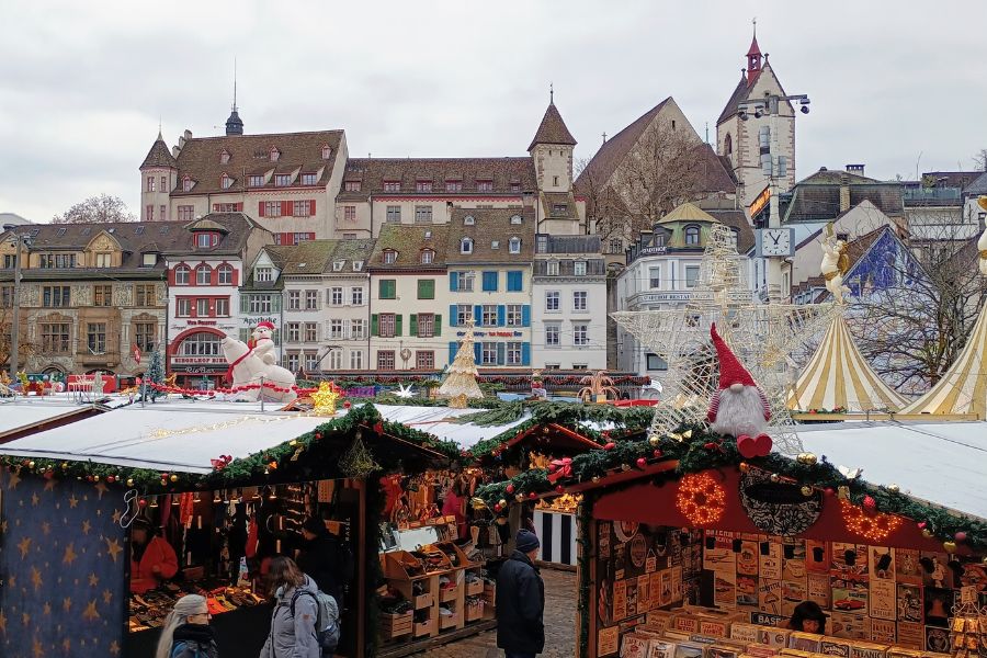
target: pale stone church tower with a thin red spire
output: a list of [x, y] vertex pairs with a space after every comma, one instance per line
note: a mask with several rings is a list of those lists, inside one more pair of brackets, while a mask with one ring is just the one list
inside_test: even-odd
[[746, 60], [747, 67], [741, 69], [740, 80], [716, 121], [716, 152], [729, 159], [739, 181], [737, 196], [745, 207], [768, 186], [764, 162], [769, 157], [774, 162], [782, 162], [779, 191], [785, 192], [795, 184], [795, 109], [792, 103], [779, 103], [774, 116], [751, 110], [745, 118], [738, 109], [745, 101], [785, 95], [768, 54], [761, 54], [757, 23]]

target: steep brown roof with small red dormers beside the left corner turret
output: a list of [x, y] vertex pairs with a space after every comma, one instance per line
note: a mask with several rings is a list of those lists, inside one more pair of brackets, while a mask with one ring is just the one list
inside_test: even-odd
[[[342, 135], [342, 131], [317, 131], [189, 139], [179, 152], [177, 160], [179, 183], [171, 194], [181, 196], [242, 192], [248, 189], [248, 174], [265, 174], [273, 171], [315, 173], [318, 175], [315, 184], [325, 186], [332, 175], [332, 163]], [[328, 160], [322, 159], [322, 146], [332, 149]], [[271, 161], [272, 148], [276, 148], [280, 152], [275, 162]], [[229, 161], [226, 164], [220, 162], [220, 154], [224, 150], [229, 154]], [[223, 190], [219, 181], [224, 173], [234, 179], [232, 185], [226, 190]], [[186, 175], [195, 183], [191, 192], [182, 191], [182, 179]], [[265, 186], [274, 189], [273, 175], [266, 181]], [[276, 189], [291, 190], [300, 186], [302, 177], [298, 175], [292, 181], [291, 186]], [[260, 189], [263, 188], [250, 188], [250, 190]]]

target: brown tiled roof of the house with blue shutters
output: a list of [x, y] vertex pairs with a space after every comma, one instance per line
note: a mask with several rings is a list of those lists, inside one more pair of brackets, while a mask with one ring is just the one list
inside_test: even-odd
[[[521, 224], [511, 217], [521, 216]], [[466, 217], [473, 224], [466, 224]], [[534, 258], [535, 212], [521, 206], [508, 208], [452, 209], [445, 261], [447, 263], [530, 263]], [[510, 252], [510, 239], [521, 238], [520, 253]], [[473, 253], [462, 253], [463, 238], [473, 239]], [[496, 242], [496, 247], [495, 247]]]

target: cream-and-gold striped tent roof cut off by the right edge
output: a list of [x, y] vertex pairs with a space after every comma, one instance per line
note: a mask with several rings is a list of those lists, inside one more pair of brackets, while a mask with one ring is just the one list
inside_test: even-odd
[[976, 413], [987, 418], [987, 304], [956, 362], [906, 413]]

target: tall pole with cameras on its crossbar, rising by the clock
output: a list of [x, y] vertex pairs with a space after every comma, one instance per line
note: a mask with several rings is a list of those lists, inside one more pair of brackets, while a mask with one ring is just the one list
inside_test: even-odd
[[[789, 161], [787, 158], [779, 154], [778, 126], [775, 124], [778, 123], [778, 116], [781, 113], [781, 109], [784, 107], [785, 102], [797, 102], [803, 114], [809, 113], [809, 103], [812, 101], [809, 101], [809, 98], [804, 93], [793, 95], [769, 94], [761, 99], [740, 101], [737, 104], [737, 116], [740, 121], [749, 121], [751, 114], [753, 114], [755, 118], [761, 118], [763, 116], [768, 117], [768, 134], [764, 135], [763, 131], [761, 131], [758, 143], [761, 154], [761, 171], [768, 177], [768, 201], [770, 203], [768, 228], [761, 229], [760, 237], [761, 243], [763, 243], [763, 240], [768, 235], [775, 234], [771, 235], [775, 245], [785, 243], [789, 246], [787, 253], [779, 253], [780, 250], [775, 249], [774, 252], [770, 254], [771, 257], [767, 258], [768, 299], [769, 302], [775, 303], [781, 302], [782, 296], [782, 259], [793, 256], [794, 249], [791, 234], [789, 236], [783, 236], [781, 235], [782, 231], [779, 230], [781, 229], [781, 217], [778, 208], [778, 179], [787, 177]], [[787, 239], [783, 240], [785, 237], [787, 237]], [[767, 254], [760, 253], [758, 256], [764, 258]]]

